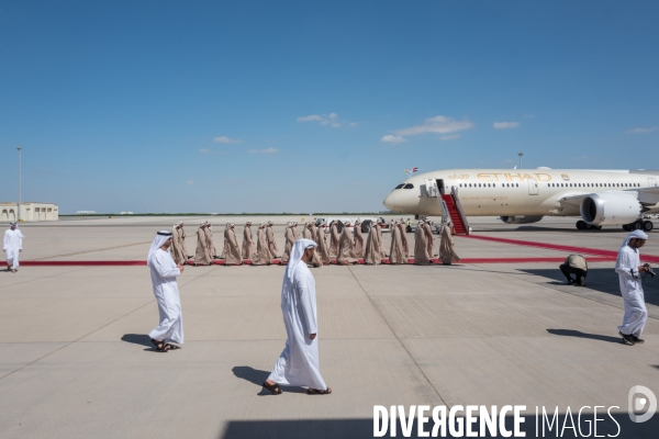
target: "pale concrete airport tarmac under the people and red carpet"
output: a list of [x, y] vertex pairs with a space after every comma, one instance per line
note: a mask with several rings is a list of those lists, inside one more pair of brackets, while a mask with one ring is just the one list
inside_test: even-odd
[[[205, 218], [188, 219], [193, 252]], [[210, 219], [221, 249], [226, 221]], [[230, 219], [239, 241], [245, 219]], [[277, 218], [281, 249], [287, 219]], [[155, 232], [175, 221], [22, 224], [22, 258], [144, 260]], [[617, 250], [626, 236], [613, 228], [578, 232], [573, 219], [562, 218], [471, 224], [483, 236], [606, 250]], [[388, 234], [384, 239], [388, 246]], [[468, 258], [567, 256], [455, 240]], [[659, 255], [657, 233], [641, 252]], [[328, 396], [261, 391], [286, 340], [283, 267], [187, 267], [179, 278], [186, 344], [167, 353], [147, 337], [158, 312], [145, 267], [0, 272], [0, 437], [361, 438], [373, 435], [375, 405], [424, 404], [525, 405], [526, 437], [536, 436], [536, 406], [558, 407], [561, 419], [568, 407], [576, 414], [583, 406], [590, 407], [584, 414], [604, 406], [597, 417], [610, 419], [606, 409], [616, 406], [617, 437], [657, 437], [659, 415], [632, 423], [627, 396], [634, 385], [659, 395], [659, 278], [645, 281], [646, 342], [629, 347], [617, 335], [623, 301], [613, 262], [589, 268], [585, 288], [566, 285], [556, 263], [313, 269]], [[612, 423], [600, 426], [599, 435], [615, 434]]]

